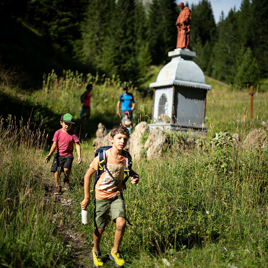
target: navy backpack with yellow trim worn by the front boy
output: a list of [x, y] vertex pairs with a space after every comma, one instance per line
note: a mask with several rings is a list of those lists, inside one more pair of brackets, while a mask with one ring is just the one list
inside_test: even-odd
[[[106, 163], [105, 163], [105, 151], [110, 149], [112, 146], [102, 146], [99, 147], [95, 152], [95, 157], [99, 156], [99, 169], [95, 172], [95, 183], [93, 187], [93, 197], [92, 202], [94, 201], [94, 193], [95, 193], [95, 186], [97, 184], [97, 181], [99, 180], [101, 174], [106, 171]], [[132, 160], [131, 155], [129, 154], [128, 150], [124, 149], [123, 152], [126, 156], [126, 169], [125, 174], [126, 177], [124, 178], [123, 184], [122, 184], [122, 190], [123, 188], [126, 189], [126, 181], [130, 177], [130, 173], [135, 174], [135, 172], [132, 170]]]

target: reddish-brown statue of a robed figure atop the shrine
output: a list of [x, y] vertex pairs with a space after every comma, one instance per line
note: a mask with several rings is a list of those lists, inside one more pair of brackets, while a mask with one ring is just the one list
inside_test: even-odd
[[183, 2], [179, 3], [181, 12], [177, 18], [176, 24], [178, 28], [177, 46], [176, 48], [189, 47], [189, 32], [190, 32], [190, 20], [191, 20], [191, 10], [184, 6]]

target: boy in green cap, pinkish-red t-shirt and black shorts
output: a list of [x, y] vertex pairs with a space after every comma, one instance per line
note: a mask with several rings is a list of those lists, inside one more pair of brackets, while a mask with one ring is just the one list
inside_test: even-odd
[[65, 190], [70, 189], [69, 176], [73, 163], [73, 143], [75, 142], [76, 151], [78, 155], [77, 164], [81, 163], [81, 148], [79, 144], [79, 138], [75, 131], [71, 129], [73, 122], [73, 116], [71, 114], [64, 114], [61, 117], [62, 128], [57, 130], [53, 137], [53, 144], [50, 148], [49, 154], [46, 156], [45, 161], [48, 163], [54, 151], [53, 163], [51, 166], [51, 172], [55, 173], [56, 190], [55, 195], [61, 193], [61, 172], [64, 171], [64, 187]]

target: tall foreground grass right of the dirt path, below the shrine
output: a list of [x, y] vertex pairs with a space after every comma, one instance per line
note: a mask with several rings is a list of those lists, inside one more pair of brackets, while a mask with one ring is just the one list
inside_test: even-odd
[[[244, 133], [247, 123], [244, 118]], [[162, 259], [171, 267], [265, 267], [268, 151], [237, 149], [218, 134], [195, 135], [192, 145], [180, 146], [183, 135], [188, 136], [166, 133], [169, 146], [160, 155], [134, 162], [140, 182], [124, 191], [133, 224], [121, 246], [126, 267], [167, 267]], [[72, 173], [77, 213], [83, 199], [78, 181], [92, 159], [93, 154]], [[92, 241], [93, 204], [89, 210], [92, 225], [81, 232]], [[111, 250], [114, 232], [111, 222], [102, 237], [103, 254]]]

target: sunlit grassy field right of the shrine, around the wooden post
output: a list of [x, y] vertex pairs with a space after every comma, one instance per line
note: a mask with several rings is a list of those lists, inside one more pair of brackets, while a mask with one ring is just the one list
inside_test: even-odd
[[[207, 92], [206, 125], [213, 122], [216, 131], [230, 131], [238, 124], [240, 130], [243, 118], [250, 114], [250, 90], [233, 90], [232, 87], [209, 77], [206, 77], [206, 83], [212, 86], [212, 90]], [[252, 125], [258, 127], [261, 121], [268, 120], [268, 91], [254, 91]]]

